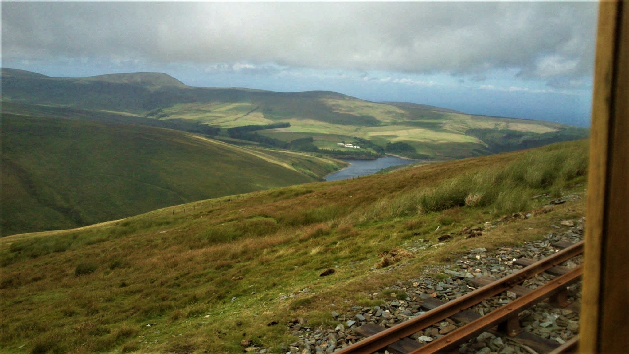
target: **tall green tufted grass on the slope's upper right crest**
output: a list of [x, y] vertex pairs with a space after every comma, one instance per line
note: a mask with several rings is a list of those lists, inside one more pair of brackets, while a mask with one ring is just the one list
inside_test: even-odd
[[360, 222], [428, 214], [452, 207], [491, 207], [494, 215], [513, 214], [530, 207], [533, 193], [561, 195], [566, 183], [587, 173], [587, 143], [548, 146], [526, 152], [504, 166], [470, 171], [433, 188], [415, 190], [373, 203]]

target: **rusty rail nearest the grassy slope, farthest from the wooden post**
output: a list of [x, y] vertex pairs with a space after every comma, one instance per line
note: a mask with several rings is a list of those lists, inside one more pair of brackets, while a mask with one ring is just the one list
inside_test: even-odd
[[453, 316], [460, 311], [464, 311], [469, 307], [479, 304], [482, 300], [498, 295], [501, 292], [520, 284], [526, 279], [533, 277], [538, 273], [542, 273], [542, 271], [545, 271], [548, 268], [559, 265], [560, 263], [581, 254], [582, 252], [583, 241], [562, 249], [561, 251], [553, 254], [552, 256], [548, 256], [537, 263], [526, 266], [516, 273], [496, 280], [496, 282], [469, 292], [458, 299], [450, 300], [446, 304], [427, 311], [421, 316], [408, 319], [408, 321], [404, 321], [403, 323], [387, 328], [380, 333], [369, 336], [364, 340], [358, 341], [353, 345], [347, 346], [346, 348], [337, 351], [337, 353], [370, 354], [374, 351], [381, 350], [387, 345], [395, 343], [396, 341], [408, 337], [413, 333], [421, 331], [422, 329], [428, 328], [447, 317]]

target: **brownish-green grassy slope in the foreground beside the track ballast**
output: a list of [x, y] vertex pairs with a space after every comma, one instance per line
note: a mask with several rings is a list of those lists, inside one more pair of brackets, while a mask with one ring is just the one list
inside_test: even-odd
[[[519, 244], [581, 216], [582, 200], [481, 237], [457, 234], [582, 193], [586, 168], [587, 142], [578, 141], [4, 237], [0, 345], [7, 353], [237, 353], [250, 339], [280, 352], [297, 339], [284, 326], [294, 317], [334, 328], [330, 311], [379, 305], [396, 296], [388, 286], [453, 252]], [[542, 193], [550, 197], [532, 198]], [[452, 239], [430, 247], [445, 234]], [[380, 253], [409, 244], [426, 246], [404, 267], [375, 268]], [[320, 277], [328, 268], [335, 273]]]

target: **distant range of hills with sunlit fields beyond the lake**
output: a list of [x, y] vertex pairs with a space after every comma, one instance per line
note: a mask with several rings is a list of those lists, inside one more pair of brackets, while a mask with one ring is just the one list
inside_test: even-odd
[[192, 88], [150, 72], [58, 78], [3, 69], [2, 79], [3, 100], [12, 103], [126, 112], [138, 119], [221, 128], [290, 123], [259, 134], [282, 142], [294, 140], [296, 134], [313, 137], [323, 152], [335, 148], [336, 142], [355, 142], [359, 137], [382, 148], [402, 142], [409, 148], [397, 152], [404, 156], [447, 159], [587, 136], [585, 128], [559, 123], [468, 115], [415, 103], [374, 103], [330, 91]]

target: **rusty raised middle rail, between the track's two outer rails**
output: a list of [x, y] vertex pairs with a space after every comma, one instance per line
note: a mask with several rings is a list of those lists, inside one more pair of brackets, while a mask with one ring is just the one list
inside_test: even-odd
[[576, 283], [581, 279], [582, 273], [583, 268], [582, 266], [579, 266], [570, 273], [566, 273], [560, 277], [550, 280], [550, 282], [538, 287], [532, 292], [509, 302], [509, 304], [503, 305], [503, 307], [499, 307], [498, 309], [489, 312], [489, 314], [482, 316], [476, 321], [472, 321], [455, 329], [442, 338], [431, 341], [430, 343], [411, 351], [409, 354], [442, 353], [454, 346], [460, 345], [465, 341], [474, 338], [474, 336], [477, 336], [479, 333], [487, 331], [497, 324], [504, 322], [509, 317], [518, 316], [520, 312], [528, 309], [528, 307], [531, 307], [538, 302], [542, 302], [557, 292], [564, 290], [565, 287], [571, 285], [572, 283]]

